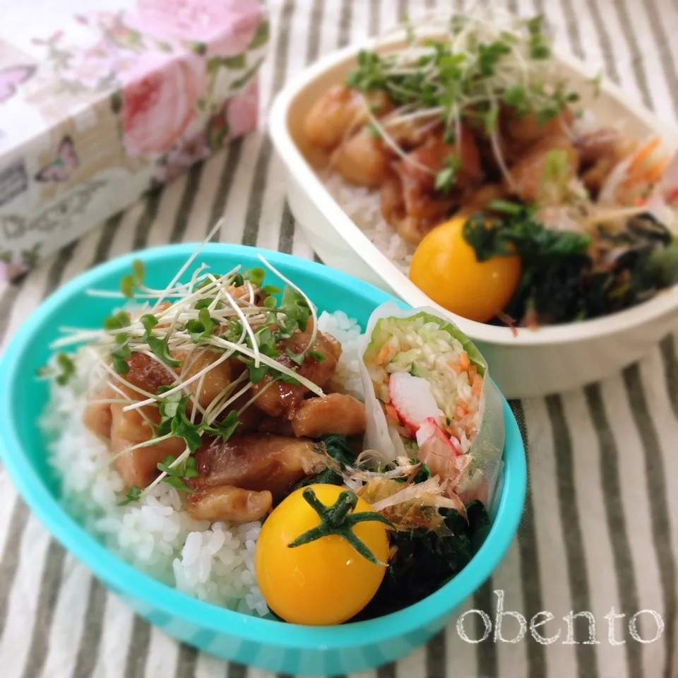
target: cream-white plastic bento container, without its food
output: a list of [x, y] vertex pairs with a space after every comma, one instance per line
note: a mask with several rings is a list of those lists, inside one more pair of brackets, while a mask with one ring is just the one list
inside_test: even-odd
[[[379, 51], [403, 45], [401, 38], [380, 42]], [[600, 319], [542, 327], [537, 331], [470, 321], [446, 311], [410, 282], [407, 275], [368, 239], [335, 201], [316, 174], [302, 133], [305, 114], [335, 83], [344, 81], [360, 49], [375, 49], [374, 39], [328, 54], [292, 79], [275, 98], [269, 131], [287, 172], [290, 210], [307, 241], [328, 266], [355, 275], [400, 297], [412, 307], [431, 306], [446, 314], [477, 345], [492, 377], [507, 398], [528, 398], [566, 391], [598, 381], [643, 357], [678, 326], [678, 286], [637, 307]], [[559, 66], [573, 84], [582, 85], [583, 105], [600, 124], [624, 121], [624, 129], [645, 138], [660, 135], [668, 150], [678, 148], [678, 129], [629, 100], [603, 78], [593, 101], [589, 73], [582, 61], [558, 54]]]

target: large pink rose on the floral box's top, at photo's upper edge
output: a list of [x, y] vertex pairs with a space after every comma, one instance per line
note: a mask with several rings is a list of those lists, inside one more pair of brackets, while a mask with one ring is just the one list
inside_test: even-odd
[[156, 37], [200, 42], [219, 57], [244, 52], [263, 16], [261, 6], [242, 0], [138, 0], [137, 11]]

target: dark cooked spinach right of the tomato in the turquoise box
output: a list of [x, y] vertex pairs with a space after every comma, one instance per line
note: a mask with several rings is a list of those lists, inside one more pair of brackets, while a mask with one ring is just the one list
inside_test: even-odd
[[374, 598], [352, 619], [373, 619], [396, 612], [431, 595], [456, 576], [480, 548], [489, 529], [489, 516], [480, 501], [466, 506], [468, 522], [453, 509], [441, 509], [451, 536], [428, 530], [398, 533], [397, 547]]

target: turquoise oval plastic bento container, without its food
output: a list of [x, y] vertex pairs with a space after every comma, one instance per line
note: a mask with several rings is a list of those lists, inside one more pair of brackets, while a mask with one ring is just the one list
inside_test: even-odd
[[[297, 626], [201, 602], [126, 564], [88, 535], [59, 504], [59, 478], [49, 468], [36, 423], [48, 385], [35, 378], [35, 371], [46, 361], [49, 343], [57, 338], [61, 325], [101, 326], [115, 301], [89, 297], [85, 290], [119, 289], [119, 280], [129, 272], [133, 258], [145, 262], [146, 283], [162, 288], [194, 249], [190, 244], [164, 246], [97, 266], [57, 290], [19, 329], [0, 360], [0, 454], [11, 480], [66, 549], [138, 614], [175, 638], [227, 660], [285, 674], [350, 673], [396, 660], [448, 622], [456, 607], [492, 574], [516, 535], [525, 499], [525, 451], [505, 400], [504, 484], [487, 540], [470, 564], [436, 593], [417, 605], [367, 622]], [[208, 244], [198, 263], [207, 263], [215, 271], [230, 270], [237, 263], [252, 267], [258, 265], [259, 251]], [[276, 252], [263, 254], [307, 290], [321, 311], [343, 310], [362, 326], [375, 307], [391, 298], [326, 266]], [[267, 281], [282, 287], [270, 273]]]

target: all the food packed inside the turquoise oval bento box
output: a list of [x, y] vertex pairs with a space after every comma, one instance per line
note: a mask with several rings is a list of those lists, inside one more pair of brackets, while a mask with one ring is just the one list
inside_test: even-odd
[[[110, 315], [61, 328], [41, 371], [62, 500], [139, 569], [240, 612], [339, 624], [410, 605], [489, 525], [503, 419], [487, 367], [436, 316], [386, 305], [364, 335], [319, 314], [260, 258], [191, 258], [163, 289], [135, 261], [119, 290], [88, 291]], [[393, 439], [374, 436], [384, 412]]]

